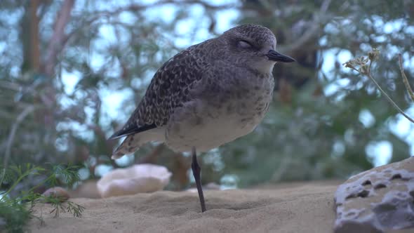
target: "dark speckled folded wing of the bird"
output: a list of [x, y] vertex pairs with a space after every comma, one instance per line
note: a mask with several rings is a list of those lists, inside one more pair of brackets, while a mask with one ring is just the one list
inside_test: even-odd
[[203, 44], [189, 47], [163, 64], [126, 124], [109, 139], [141, 133], [167, 123], [173, 110], [189, 100], [192, 84], [201, 79], [203, 70], [209, 66], [203, 60], [201, 46]]

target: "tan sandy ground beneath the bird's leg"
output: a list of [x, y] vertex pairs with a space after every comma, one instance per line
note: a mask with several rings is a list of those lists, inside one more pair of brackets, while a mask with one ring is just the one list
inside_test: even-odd
[[76, 198], [82, 218], [48, 204], [36, 206], [31, 232], [332, 232], [333, 194], [340, 182], [309, 182], [255, 189], [206, 191], [201, 213], [192, 192], [154, 192], [107, 199]]

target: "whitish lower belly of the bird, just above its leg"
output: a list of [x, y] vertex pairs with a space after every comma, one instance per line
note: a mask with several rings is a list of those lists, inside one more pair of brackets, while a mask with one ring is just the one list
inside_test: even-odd
[[166, 144], [178, 152], [191, 151], [192, 147], [207, 152], [251, 133], [264, 114], [246, 102], [212, 107], [194, 101], [173, 114], [166, 128]]

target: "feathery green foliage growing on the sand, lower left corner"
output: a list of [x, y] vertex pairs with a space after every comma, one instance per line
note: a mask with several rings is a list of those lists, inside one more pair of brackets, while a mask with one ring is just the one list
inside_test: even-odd
[[[78, 166], [51, 166], [51, 168], [41, 168], [32, 164], [10, 166], [0, 168], [0, 187], [8, 186], [4, 192], [0, 192], [0, 230], [7, 232], [24, 232], [25, 225], [32, 218], [39, 218], [34, 213], [34, 206], [40, 203], [48, 203], [53, 206], [55, 217], [59, 216], [60, 211], [72, 213], [74, 217], [81, 218], [84, 207], [74, 204], [72, 201], [58, 195], [42, 195], [34, 192], [40, 185], [57, 185], [59, 180], [63, 180], [69, 187], [79, 181]], [[33, 179], [36, 176], [45, 176], [46, 179], [40, 184], [26, 189], [15, 197], [11, 197], [11, 192], [23, 180]], [[41, 218], [39, 218], [41, 220]], [[42, 221], [42, 220], [41, 220]]]

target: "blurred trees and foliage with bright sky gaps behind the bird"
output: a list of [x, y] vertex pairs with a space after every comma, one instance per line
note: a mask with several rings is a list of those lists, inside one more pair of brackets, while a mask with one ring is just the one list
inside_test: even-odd
[[[156, 69], [182, 49], [242, 23], [272, 29], [274, 100], [256, 130], [201, 154], [203, 183], [347, 178], [414, 154], [413, 124], [369, 79], [342, 66], [381, 54], [373, 76], [414, 116], [396, 54], [414, 84], [414, 1], [0, 2], [0, 162], [81, 165], [83, 180], [137, 163], [167, 166], [169, 189], [192, 185], [188, 154], [149, 144], [109, 159]], [[26, 185], [33, 185], [28, 180]]]

